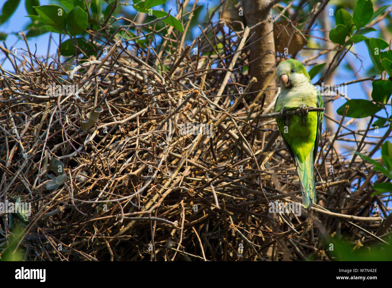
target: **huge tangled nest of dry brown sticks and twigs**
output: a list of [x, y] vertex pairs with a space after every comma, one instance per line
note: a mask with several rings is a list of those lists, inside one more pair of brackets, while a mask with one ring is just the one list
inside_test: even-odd
[[[31, 203], [27, 221], [0, 213], [1, 257], [328, 260], [338, 223], [351, 243], [377, 241], [369, 233], [381, 217], [370, 212], [382, 201], [368, 179], [378, 172], [327, 155], [326, 133], [314, 219], [269, 213], [270, 201], [300, 203], [301, 192], [274, 118], [258, 117], [273, 103], [250, 105], [260, 91], [251, 93], [244, 33], [209, 24], [198, 53], [176, 48], [172, 32], [154, 52], [121, 42], [102, 65], [99, 55], [71, 66], [26, 50], [16, 72], [0, 67], [0, 201]], [[93, 121], [85, 131], [83, 121]], [[358, 177], [367, 182], [353, 192]]]

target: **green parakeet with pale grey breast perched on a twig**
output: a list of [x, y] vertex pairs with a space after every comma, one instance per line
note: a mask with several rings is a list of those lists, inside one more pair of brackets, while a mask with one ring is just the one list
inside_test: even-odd
[[302, 190], [302, 205], [312, 207], [316, 202], [314, 160], [323, 126], [323, 112], [307, 112], [307, 107], [323, 107], [323, 98], [310, 82], [305, 67], [297, 60], [281, 62], [276, 71], [281, 91], [276, 99], [275, 112], [302, 109], [302, 115], [279, 116], [276, 118], [287, 149], [297, 164]]

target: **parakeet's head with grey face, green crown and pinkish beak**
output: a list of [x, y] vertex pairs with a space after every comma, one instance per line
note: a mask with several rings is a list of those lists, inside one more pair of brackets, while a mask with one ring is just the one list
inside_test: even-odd
[[280, 87], [282, 90], [296, 87], [301, 83], [310, 82], [310, 77], [301, 62], [289, 59], [281, 62], [276, 70], [276, 75], [280, 79]]

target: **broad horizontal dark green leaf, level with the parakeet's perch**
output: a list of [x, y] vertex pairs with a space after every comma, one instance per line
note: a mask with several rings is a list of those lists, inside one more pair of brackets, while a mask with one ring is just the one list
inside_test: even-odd
[[369, 100], [351, 99], [340, 106], [336, 112], [339, 115], [343, 115], [344, 109], [347, 105], [350, 107], [348, 108], [346, 116], [352, 118], [368, 117], [376, 114], [376, 112], [382, 109], [382, 107], [372, 103]]

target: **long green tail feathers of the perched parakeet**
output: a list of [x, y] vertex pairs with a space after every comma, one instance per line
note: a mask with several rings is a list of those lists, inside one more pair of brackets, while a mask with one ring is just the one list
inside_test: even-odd
[[316, 203], [316, 183], [314, 181], [313, 169], [313, 151], [305, 158], [305, 161], [299, 161], [297, 157], [297, 172], [299, 183], [302, 190], [302, 206], [304, 208], [312, 207], [312, 202]]

